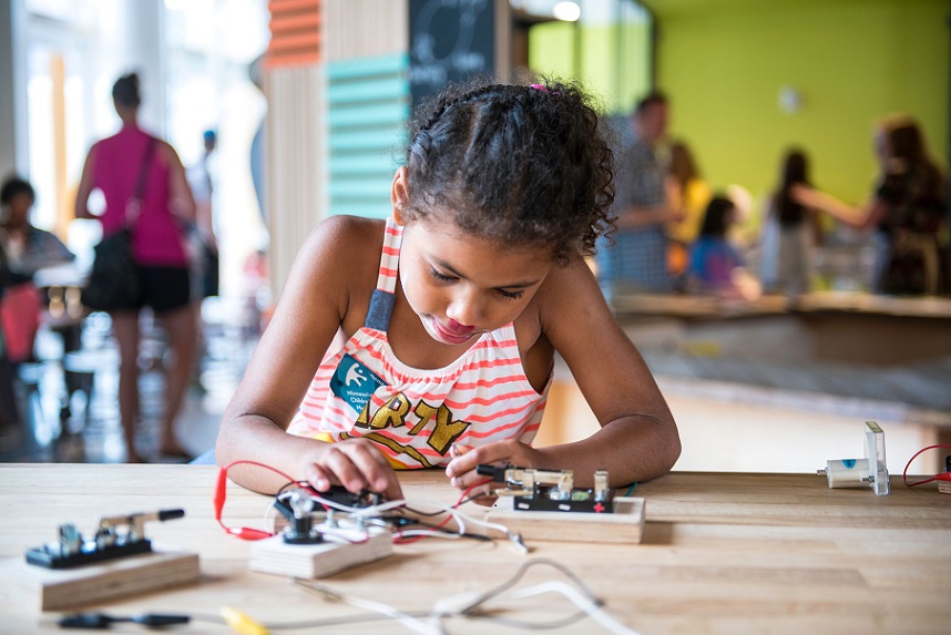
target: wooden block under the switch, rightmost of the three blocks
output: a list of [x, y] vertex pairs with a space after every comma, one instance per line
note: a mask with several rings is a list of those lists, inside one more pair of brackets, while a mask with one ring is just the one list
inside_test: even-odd
[[505, 525], [526, 541], [556, 540], [593, 543], [640, 543], [644, 533], [644, 499], [617, 496], [613, 513], [535, 512], [513, 508], [501, 496], [485, 520]]

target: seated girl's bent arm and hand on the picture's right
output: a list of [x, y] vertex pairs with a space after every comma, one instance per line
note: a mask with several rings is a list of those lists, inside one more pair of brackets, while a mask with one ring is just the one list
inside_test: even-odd
[[555, 268], [539, 290], [541, 340], [571, 368], [601, 430], [562, 445], [532, 449], [518, 441], [477, 448], [450, 463], [447, 474], [460, 488], [478, 482], [479, 463], [572, 469], [580, 487], [606, 469], [612, 487], [659, 477], [681, 454], [677, 427], [651, 371], [607, 307], [591, 269], [581, 258]]

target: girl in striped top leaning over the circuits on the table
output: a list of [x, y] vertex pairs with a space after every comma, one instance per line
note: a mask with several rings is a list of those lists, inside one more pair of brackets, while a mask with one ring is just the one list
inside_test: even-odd
[[[480, 463], [573, 469], [579, 487], [599, 468], [614, 487], [668, 471], [674, 420], [584, 262], [613, 188], [581, 90], [450, 88], [409, 139], [390, 217], [331, 217], [305, 243], [225, 412], [218, 463], [388, 498], [393, 468], [440, 467], [460, 489]], [[536, 449], [555, 351], [602, 428]], [[273, 492], [284, 483], [267, 472], [229, 474]]]

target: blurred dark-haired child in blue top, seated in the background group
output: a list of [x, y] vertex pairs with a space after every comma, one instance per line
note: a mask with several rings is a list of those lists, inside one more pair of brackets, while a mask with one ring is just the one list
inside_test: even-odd
[[714, 196], [704, 213], [701, 233], [691, 254], [691, 278], [694, 290], [724, 297], [743, 297], [738, 279], [743, 257], [727, 240], [729, 226], [736, 221], [736, 206], [725, 196]]

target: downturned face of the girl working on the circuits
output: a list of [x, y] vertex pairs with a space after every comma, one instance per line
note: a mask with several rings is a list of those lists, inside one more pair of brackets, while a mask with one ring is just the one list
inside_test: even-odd
[[430, 337], [461, 345], [521, 315], [551, 267], [544, 250], [511, 248], [450, 223], [417, 221], [403, 232], [399, 275]]

